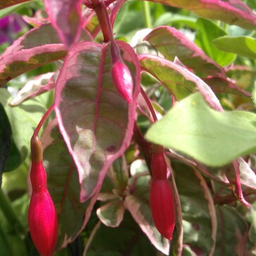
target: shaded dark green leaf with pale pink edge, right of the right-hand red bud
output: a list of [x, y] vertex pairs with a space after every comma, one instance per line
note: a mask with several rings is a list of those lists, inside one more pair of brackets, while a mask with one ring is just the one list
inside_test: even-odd
[[212, 255], [217, 219], [207, 183], [196, 169], [176, 161], [172, 166], [181, 200], [183, 244], [190, 245], [196, 255]]

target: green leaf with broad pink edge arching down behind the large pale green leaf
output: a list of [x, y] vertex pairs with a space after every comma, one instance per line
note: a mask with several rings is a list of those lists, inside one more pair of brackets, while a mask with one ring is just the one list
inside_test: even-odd
[[140, 54], [138, 59], [142, 70], [159, 80], [176, 99], [183, 99], [195, 90], [199, 90], [213, 109], [223, 111], [219, 99], [211, 88], [188, 69], [151, 54]]

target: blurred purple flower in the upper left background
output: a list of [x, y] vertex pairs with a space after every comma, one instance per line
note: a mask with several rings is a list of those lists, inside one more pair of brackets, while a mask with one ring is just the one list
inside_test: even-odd
[[0, 44], [13, 43], [13, 35], [19, 32], [25, 25], [25, 21], [17, 14], [10, 14], [0, 19]]

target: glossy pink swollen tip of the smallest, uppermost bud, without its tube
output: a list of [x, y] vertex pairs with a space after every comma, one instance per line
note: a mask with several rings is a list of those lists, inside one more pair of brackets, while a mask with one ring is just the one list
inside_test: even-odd
[[133, 102], [133, 78], [125, 63], [122, 61], [114, 62], [111, 75], [116, 86], [116, 90], [127, 102]]

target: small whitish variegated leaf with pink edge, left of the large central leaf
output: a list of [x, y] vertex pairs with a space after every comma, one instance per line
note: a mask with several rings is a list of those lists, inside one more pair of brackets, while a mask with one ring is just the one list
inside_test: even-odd
[[54, 89], [56, 78], [58, 77], [59, 72], [50, 72], [42, 75], [37, 75], [32, 80], [29, 80], [21, 90], [19, 90], [16, 97], [10, 102], [11, 106], [16, 106], [21, 102], [24, 102], [26, 99], [36, 97], [41, 95], [44, 92]]

